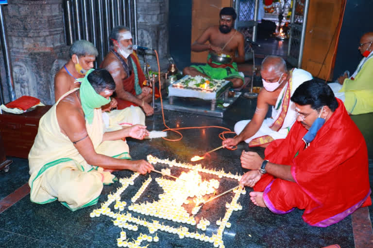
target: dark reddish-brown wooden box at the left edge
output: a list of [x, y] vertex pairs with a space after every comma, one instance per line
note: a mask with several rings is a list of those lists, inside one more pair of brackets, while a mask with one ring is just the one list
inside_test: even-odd
[[51, 105], [38, 106], [23, 114], [2, 111], [0, 132], [7, 156], [28, 158], [37, 134], [39, 120], [50, 108]]

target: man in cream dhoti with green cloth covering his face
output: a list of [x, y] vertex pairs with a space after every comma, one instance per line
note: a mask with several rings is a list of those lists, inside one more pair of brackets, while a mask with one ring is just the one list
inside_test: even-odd
[[104, 131], [101, 107], [115, 91], [110, 73], [91, 69], [79, 80], [80, 88], [65, 93], [40, 119], [29, 154], [31, 201], [58, 200], [72, 211], [98, 202], [103, 185], [116, 180], [111, 171], [153, 169], [145, 160], [131, 160], [123, 139], [143, 139], [149, 135], [144, 125]]

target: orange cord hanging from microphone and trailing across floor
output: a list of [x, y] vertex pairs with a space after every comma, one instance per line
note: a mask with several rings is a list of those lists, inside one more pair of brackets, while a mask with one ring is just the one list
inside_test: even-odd
[[[158, 83], [159, 83], [159, 91], [161, 89], [161, 69], [160, 69], [160, 66], [159, 66], [159, 58], [158, 58], [158, 53], [156, 50], [154, 50], [155, 52], [155, 56], [157, 57], [157, 64], [158, 64]], [[219, 138], [221, 140], [225, 140], [226, 138], [224, 137], [225, 134], [235, 134], [235, 132], [232, 132], [231, 129], [229, 128], [226, 128], [226, 127], [223, 127], [223, 126], [190, 126], [190, 127], [179, 127], [179, 128], [170, 128], [168, 125], [166, 125], [166, 122], [165, 122], [165, 113], [163, 112], [163, 100], [162, 100], [162, 94], [159, 92], [159, 95], [160, 95], [160, 99], [161, 99], [161, 109], [162, 109], [162, 119], [163, 119], [163, 124], [167, 127], [167, 129], [164, 129], [162, 131], [172, 131], [172, 132], [175, 132], [177, 134], [180, 135], [180, 138], [179, 139], [176, 139], [176, 140], [170, 140], [170, 139], [166, 139], [164, 137], [162, 137], [162, 139], [164, 140], [168, 140], [168, 141], [179, 141], [181, 139], [183, 139], [183, 135], [177, 131], [177, 130], [184, 130], [184, 129], [200, 129], [200, 128], [212, 128], [212, 127], [215, 127], [215, 128], [221, 128], [221, 129], [225, 129], [226, 131], [223, 131], [219, 134]], [[229, 150], [236, 150], [237, 149], [237, 146], [235, 146], [234, 148], [228, 148], [228, 147], [225, 147]]]

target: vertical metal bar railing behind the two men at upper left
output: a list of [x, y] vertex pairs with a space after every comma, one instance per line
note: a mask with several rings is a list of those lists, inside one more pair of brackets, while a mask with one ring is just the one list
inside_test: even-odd
[[65, 40], [70, 46], [76, 40], [92, 42], [100, 64], [109, 51], [110, 31], [124, 25], [130, 28], [137, 41], [136, 0], [66, 0], [63, 2]]

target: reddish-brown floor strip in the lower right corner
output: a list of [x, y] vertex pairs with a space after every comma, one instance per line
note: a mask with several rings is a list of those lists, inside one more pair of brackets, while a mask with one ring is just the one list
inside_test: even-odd
[[[363, 212], [363, 213], [360, 213], [360, 212]], [[363, 215], [366, 215], [366, 217], [365, 216], [363, 218], [361, 218], [361, 216], [356, 217], [357, 214], [363, 214]], [[364, 221], [364, 219], [365, 219], [365, 221]], [[361, 241], [366, 241], [366, 240], [369, 239], [369, 237], [371, 237], [371, 240], [373, 240], [372, 221], [371, 221], [371, 217], [370, 217], [368, 207], [358, 209], [356, 212], [354, 212], [352, 214], [351, 222], [352, 222], [352, 231], [353, 231], [353, 235], [354, 235], [355, 248], [368, 248], [366, 246], [364, 246], [364, 247], [361, 246], [361, 244], [365, 245], [365, 244], [368, 243], [368, 242], [361, 242]], [[358, 230], [358, 227], [363, 227], [362, 229], [364, 231], [367, 231], [367, 235], [364, 235], [363, 234], [364, 231], [362, 231], [361, 229]], [[363, 234], [363, 235], [361, 235], [361, 234]], [[373, 245], [370, 246], [370, 247], [373, 248]]]

